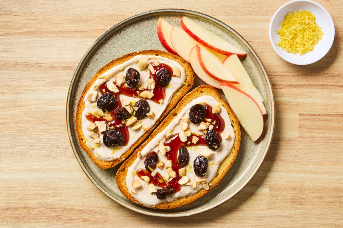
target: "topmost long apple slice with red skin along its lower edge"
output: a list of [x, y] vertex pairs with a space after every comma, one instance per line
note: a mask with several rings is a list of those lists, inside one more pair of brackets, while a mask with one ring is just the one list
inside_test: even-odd
[[181, 19], [181, 28], [194, 40], [215, 52], [223, 55], [237, 54], [238, 57], [243, 57], [247, 54], [186, 16], [183, 16]]

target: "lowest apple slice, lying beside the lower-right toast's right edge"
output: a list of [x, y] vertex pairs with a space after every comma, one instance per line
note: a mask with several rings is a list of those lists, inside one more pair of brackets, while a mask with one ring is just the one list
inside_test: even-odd
[[256, 101], [232, 84], [221, 83], [225, 97], [235, 112], [238, 121], [255, 142], [263, 131], [263, 115]]

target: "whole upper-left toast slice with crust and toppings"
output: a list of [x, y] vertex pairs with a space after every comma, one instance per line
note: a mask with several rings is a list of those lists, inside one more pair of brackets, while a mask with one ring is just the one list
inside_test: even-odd
[[[126, 82], [126, 73], [129, 68], [140, 73], [138, 85], [132, 84], [132, 89]], [[165, 86], [158, 84], [156, 76], [158, 70], [163, 68], [167, 68], [171, 74], [170, 82]], [[147, 80], [148, 78], [150, 81]], [[80, 146], [102, 169], [119, 164], [149, 136], [170, 110], [177, 105], [192, 87], [193, 82], [194, 73], [190, 65], [179, 56], [168, 52], [139, 51], [111, 61], [90, 79], [79, 99], [75, 122]], [[104, 110], [101, 110], [102, 108], [98, 107], [99, 97], [107, 92], [111, 93], [110, 96], [113, 95], [111, 98], [115, 98], [114, 102], [112, 99], [115, 107], [110, 109], [102, 107]], [[150, 98], [151, 94], [153, 97]], [[144, 109], [145, 116], [140, 116], [137, 121], [133, 121], [133, 117], [137, 113], [133, 110], [134, 106], [141, 99], [146, 100], [150, 107]], [[122, 113], [125, 111], [125, 118], [116, 118], [114, 109], [120, 107], [130, 113], [130, 121], [134, 122], [133, 124], [128, 125], [129, 121], [126, 119], [128, 116], [125, 110], [122, 110]], [[149, 118], [147, 117], [148, 110]], [[119, 129], [121, 135], [112, 131], [111, 134], [117, 134], [120, 137], [115, 139], [115, 143], [105, 146], [104, 135], [113, 128]], [[107, 139], [113, 138], [113, 136], [107, 136]], [[107, 143], [107, 145], [109, 144]]]

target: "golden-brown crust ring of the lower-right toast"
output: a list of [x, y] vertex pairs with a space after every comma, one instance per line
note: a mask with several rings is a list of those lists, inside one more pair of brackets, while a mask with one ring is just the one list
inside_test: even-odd
[[[141, 151], [147, 145], [147, 143], [150, 142], [151, 139], [153, 139], [159, 132], [161, 132], [163, 129], [165, 129], [168, 126], [168, 124], [178, 115], [178, 113], [188, 103], [190, 103], [193, 99], [195, 99], [199, 96], [203, 96], [203, 95], [213, 96], [218, 102], [223, 103], [223, 107], [226, 109], [226, 111], [229, 114], [229, 118], [231, 121], [230, 124], [232, 124], [232, 126], [234, 128], [234, 132], [235, 132], [235, 140], [234, 140], [233, 147], [232, 147], [229, 155], [226, 156], [226, 158], [220, 163], [218, 170], [216, 172], [216, 175], [211, 180], [212, 186], [210, 186], [209, 190], [214, 188], [222, 180], [222, 178], [227, 173], [227, 171], [230, 169], [230, 167], [232, 166], [233, 162], [235, 161], [235, 159], [237, 157], [237, 153], [238, 153], [239, 146], [240, 146], [241, 137], [240, 137], [240, 125], [238, 123], [238, 119], [237, 119], [235, 113], [229, 107], [229, 105], [223, 99], [221, 99], [221, 97], [220, 97], [220, 95], [216, 89], [214, 89], [210, 85], [198, 86], [193, 91], [189, 92], [179, 102], [179, 104], [169, 113], [169, 115], [163, 120], [163, 122], [158, 126], [158, 128], [155, 129], [155, 131], [149, 136], [149, 138], [147, 138], [147, 140], [145, 140], [145, 142], [142, 145], [140, 145], [140, 147], [138, 147], [135, 150], [135, 152], [119, 167], [117, 175], [116, 175], [117, 186], [118, 186], [119, 190], [123, 193], [123, 195], [125, 195], [129, 200], [131, 200], [134, 203], [143, 205], [140, 202], [138, 202], [135, 198], [132, 197], [131, 193], [129, 192], [129, 189], [127, 189], [127, 186], [126, 186], [126, 176], [127, 176], [128, 168], [133, 164], [133, 162], [137, 158], [138, 151]], [[154, 209], [172, 209], [175, 207], [186, 205], [186, 204], [189, 204], [189, 203], [199, 199], [200, 197], [205, 195], [207, 192], [209, 192], [209, 190], [201, 189], [196, 194], [194, 194], [192, 196], [179, 198], [173, 202], [160, 203], [160, 204], [157, 204], [151, 208], [154, 208]], [[143, 205], [143, 206], [145, 206], [145, 205]]]

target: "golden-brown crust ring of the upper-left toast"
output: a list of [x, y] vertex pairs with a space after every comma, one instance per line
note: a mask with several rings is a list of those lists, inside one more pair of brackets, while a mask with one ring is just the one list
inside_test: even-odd
[[[99, 75], [102, 75], [103, 73], [105, 73], [107, 70], [109, 70], [110, 68], [125, 63], [126, 61], [128, 61], [129, 59], [131, 59], [132, 57], [136, 56], [136, 55], [159, 55], [162, 57], [166, 57], [169, 58], [171, 60], [174, 60], [176, 62], [178, 62], [182, 67], [185, 68], [185, 72], [186, 72], [186, 79], [185, 79], [185, 83], [183, 84], [173, 95], [170, 103], [167, 105], [165, 111], [162, 113], [161, 117], [156, 121], [156, 123], [152, 126], [152, 128], [150, 128], [149, 130], [147, 130], [125, 153], [123, 153], [120, 158], [113, 160], [113, 161], [103, 161], [100, 160], [98, 158], [96, 158], [93, 154], [93, 152], [86, 147], [86, 145], [84, 144], [83, 140], [85, 139], [84, 134], [82, 132], [82, 112], [85, 108], [85, 103], [84, 103], [84, 97], [86, 95], [86, 93], [88, 92], [88, 90], [91, 88], [91, 86], [94, 84], [94, 82], [96, 81], [97, 77]], [[172, 110], [177, 103], [179, 102], [179, 100], [184, 97], [184, 95], [190, 90], [190, 88], [192, 87], [194, 83], [194, 73], [193, 70], [191, 68], [191, 66], [187, 63], [187, 61], [185, 61], [184, 59], [182, 59], [181, 57], [168, 53], [168, 52], [164, 52], [164, 51], [158, 51], [158, 50], [146, 50], [146, 51], [139, 51], [139, 52], [133, 52], [133, 53], [129, 53], [127, 55], [124, 55], [122, 57], [119, 57], [113, 61], [111, 61], [110, 63], [106, 64], [104, 67], [102, 67], [100, 70], [98, 70], [96, 72], [96, 74], [91, 78], [91, 80], [86, 84], [81, 97], [79, 99], [79, 103], [77, 106], [77, 110], [76, 110], [76, 120], [75, 120], [75, 124], [76, 124], [76, 133], [78, 135], [78, 139], [79, 139], [79, 143], [80, 146], [83, 150], [85, 150], [88, 155], [90, 156], [90, 158], [93, 160], [93, 162], [99, 166], [102, 169], [109, 169], [111, 167], [114, 167], [115, 165], [119, 164], [120, 162], [122, 162], [123, 160], [125, 160], [128, 156], [130, 156], [130, 154], [132, 153], [132, 151], [139, 146], [144, 139], [149, 136], [149, 134], [156, 128], [156, 126], [165, 118], [165, 116], [170, 112], [170, 110]]]

